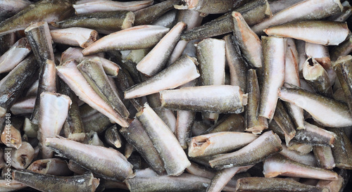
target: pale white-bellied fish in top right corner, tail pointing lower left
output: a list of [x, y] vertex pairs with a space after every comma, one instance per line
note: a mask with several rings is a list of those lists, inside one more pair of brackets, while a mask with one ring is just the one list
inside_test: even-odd
[[275, 13], [271, 18], [263, 20], [252, 27], [256, 34], [262, 33], [262, 30], [274, 25], [294, 22], [298, 20], [320, 20], [334, 13], [342, 11], [340, 1], [336, 0], [308, 0], [301, 1], [293, 6], [285, 8]]

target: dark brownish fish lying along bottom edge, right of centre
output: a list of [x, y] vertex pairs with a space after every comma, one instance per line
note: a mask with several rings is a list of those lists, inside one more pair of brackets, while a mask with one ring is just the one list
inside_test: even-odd
[[301, 184], [293, 179], [246, 177], [237, 180], [236, 191], [304, 191], [304, 192], [329, 192], [329, 189]]

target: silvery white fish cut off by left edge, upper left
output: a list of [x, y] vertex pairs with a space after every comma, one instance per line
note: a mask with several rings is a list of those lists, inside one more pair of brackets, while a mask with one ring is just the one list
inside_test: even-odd
[[11, 71], [32, 50], [25, 37], [19, 39], [0, 57], [0, 73]]

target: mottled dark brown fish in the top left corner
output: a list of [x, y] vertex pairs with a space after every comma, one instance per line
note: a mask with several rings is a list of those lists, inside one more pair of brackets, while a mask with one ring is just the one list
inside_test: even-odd
[[45, 21], [53, 23], [70, 17], [75, 9], [69, 1], [42, 0], [0, 23], [0, 35], [24, 30], [30, 23]]

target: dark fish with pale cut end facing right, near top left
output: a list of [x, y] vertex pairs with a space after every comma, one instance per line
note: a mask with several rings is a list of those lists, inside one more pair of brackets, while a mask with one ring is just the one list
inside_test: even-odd
[[102, 34], [110, 34], [132, 27], [134, 13], [131, 11], [108, 11], [75, 15], [55, 23], [56, 27], [84, 27]]

